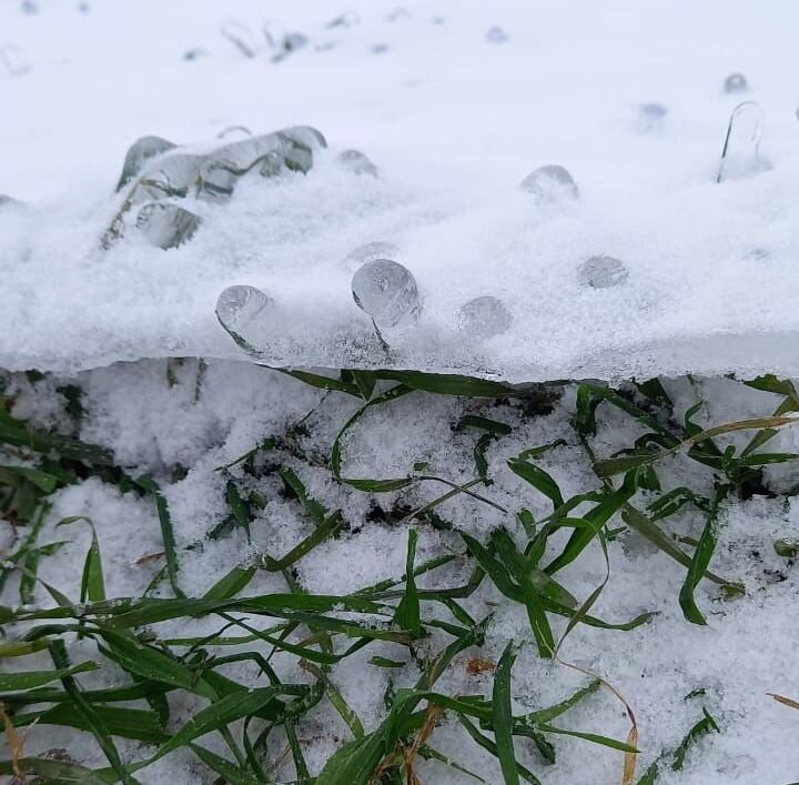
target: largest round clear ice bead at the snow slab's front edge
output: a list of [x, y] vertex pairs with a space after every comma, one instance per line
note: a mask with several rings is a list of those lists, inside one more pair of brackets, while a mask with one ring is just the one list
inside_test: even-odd
[[418, 289], [411, 271], [391, 259], [366, 262], [353, 275], [353, 299], [378, 328], [395, 328], [416, 320]]

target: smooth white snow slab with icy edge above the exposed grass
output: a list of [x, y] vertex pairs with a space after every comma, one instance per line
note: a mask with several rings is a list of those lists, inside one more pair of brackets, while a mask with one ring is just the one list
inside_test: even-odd
[[[797, 7], [657, 0], [352, 3], [39, 0], [0, 4], [0, 366], [75, 371], [117, 360], [242, 356], [214, 304], [263, 289], [271, 364], [402, 366], [513, 381], [656, 372], [799, 372]], [[391, 13], [390, 13], [391, 12]], [[274, 62], [267, 17], [309, 44]], [[220, 26], [237, 20], [255, 57]], [[489, 29], [499, 27], [503, 36]], [[227, 30], [233, 28], [227, 27]], [[184, 59], [184, 53], [195, 58]], [[27, 67], [27, 70], [26, 70]], [[727, 94], [742, 72], [750, 92]], [[771, 168], [717, 184], [732, 109], [762, 108]], [[666, 113], [643, 110], [660, 104]], [[330, 148], [303, 177], [201, 203], [170, 251], [100, 236], [128, 147], [208, 143], [307, 123]], [[378, 175], [337, 161], [364, 151]], [[565, 165], [579, 199], [518, 183]], [[423, 299], [386, 355], [352, 301], [347, 262], [387, 241]], [[586, 286], [593, 255], [628, 279]], [[457, 331], [467, 300], [502, 298], [509, 331]]]

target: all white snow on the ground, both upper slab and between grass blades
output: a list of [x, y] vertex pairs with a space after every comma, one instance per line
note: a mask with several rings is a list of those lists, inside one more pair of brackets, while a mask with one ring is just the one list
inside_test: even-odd
[[[715, 378], [665, 382], [678, 421], [698, 400], [708, 402], [704, 424], [769, 415], [779, 403], [722, 373], [799, 373], [792, 285], [799, 280], [799, 8], [792, 4], [27, 6], [34, 12], [0, 0], [0, 193], [22, 202], [0, 201], [0, 369], [14, 372], [4, 392], [0, 376], [0, 392], [13, 397], [14, 416], [70, 430], [75, 422], [64, 414], [58, 389], [74, 384], [83, 391], [80, 437], [111, 449], [131, 475], [149, 473], [161, 482], [180, 584], [189, 596], [201, 596], [235, 564], [289, 552], [312, 531], [276, 477], [254, 480], [235, 467], [236, 482], [266, 495], [269, 504], [255, 516], [250, 541], [241, 529], [209, 539], [229, 511], [229, 475], [216, 469], [266, 437], [291, 434], [280, 461], [328, 510], [344, 511], [348, 524], [297, 563], [296, 580], [314, 594], [344, 595], [400, 578], [407, 522], [383, 520], [376, 505], [385, 512], [396, 502], [411, 510], [444, 492], [423, 482], [375, 496], [336, 482], [327, 459], [338, 429], [361, 404], [245, 362], [214, 314], [226, 286], [253, 285], [274, 299], [275, 313], [253, 339], [274, 365], [393, 365], [514, 382], [704, 374]], [[330, 24], [338, 18], [342, 23]], [[303, 33], [307, 43], [275, 62], [264, 29], [275, 38]], [[242, 44], [253, 57], [244, 56]], [[748, 91], [724, 91], [735, 72], [746, 76]], [[748, 177], [717, 183], [730, 113], [744, 101], [761, 109], [759, 159], [744, 144], [734, 162]], [[666, 111], [645, 110], [648, 104]], [[245, 179], [224, 203], [179, 200], [202, 224], [178, 249], [153, 248], [132, 227], [102, 248], [124, 199], [114, 189], [125, 151], [138, 138], [213, 145], [234, 125], [265, 133], [301, 124], [327, 140], [326, 149], [314, 151], [307, 174]], [[230, 133], [225, 141], [243, 138]], [[368, 155], [377, 175], [344, 165], [338, 154], [348, 149]], [[765, 161], [770, 168], [760, 165]], [[572, 172], [577, 200], [543, 203], [519, 189], [545, 164]], [[752, 173], [757, 169], [763, 171]], [[351, 253], [376, 241], [396, 246], [394, 255], [413, 272], [422, 301], [416, 324], [386, 334], [391, 353], [351, 294], [357, 268]], [[588, 258], [603, 254], [627, 270], [617, 286], [588, 286], [580, 275]], [[481, 295], [507, 306], [512, 323], [505, 333], [479, 340], [458, 331], [458, 310]], [[199, 356], [208, 359], [206, 368], [192, 359]], [[20, 373], [28, 369], [55, 375], [32, 381]], [[552, 511], [508, 469], [508, 459], [565, 439], [540, 465], [567, 496], [598, 487], [569, 425], [574, 397], [568, 385], [552, 413], [525, 415], [513, 402], [408, 394], [374, 407], [353, 429], [343, 475], [404, 477], [424, 463], [429, 475], [467, 482], [475, 473], [476, 439], [453, 426], [465, 414], [510, 425], [510, 434], [492, 442], [486, 454], [494, 484], [479, 486], [505, 512], [461, 494], [437, 507], [453, 531], [418, 525], [417, 563], [458, 554], [419, 585], [459, 585], [469, 567], [457, 532], [485, 540], [506, 526], [520, 541], [519, 509], [538, 519]], [[600, 410], [595, 446], [603, 457], [640, 434], [614, 411]], [[292, 430], [300, 421], [303, 429]], [[799, 452], [799, 429], [781, 432], [768, 450]], [[792, 465], [768, 470], [776, 489], [796, 484]], [[665, 487], [712, 491], [711, 472], [679, 461], [667, 462], [664, 477]], [[163, 566], [152, 500], [90, 477], [51, 501], [39, 543], [68, 544], [41, 560], [40, 577], [79, 595], [90, 530], [55, 523], [87, 515], [97, 529], [108, 596], [141, 596]], [[686, 510], [664, 527], [690, 542], [702, 520]], [[663, 751], [679, 745], [702, 706], [720, 733], [697, 741], [681, 771], [661, 766], [658, 785], [787, 785], [799, 777], [799, 713], [767, 696], [799, 694], [799, 578], [793, 563], [773, 549], [778, 539], [799, 540], [797, 506], [783, 496], [729, 501], [718, 535], [711, 568], [747, 591], [721, 601], [712, 584], [700, 583], [697, 602], [707, 626], [682, 617], [677, 595], [685, 568], [626, 532], [609, 543], [610, 581], [591, 613], [613, 622], [645, 611], [656, 615], [630, 632], [577, 625], [564, 645], [564, 660], [605, 677], [635, 711], [641, 755], [634, 782]], [[1, 552], [13, 551], [19, 536], [19, 529], [0, 521]], [[560, 575], [583, 601], [605, 570], [594, 543]], [[7, 584], [3, 605], [18, 602], [18, 580]], [[246, 593], [284, 591], [280, 573], [259, 572]], [[50, 604], [40, 586], [34, 601]], [[508, 640], [529, 638], [524, 607], [487, 582], [464, 606], [478, 618], [493, 611], [481, 656], [496, 662]], [[208, 618], [181, 620], [158, 633], [199, 636], [219, 626], [211, 625]], [[70, 651], [75, 660], [94, 656], [87, 641]], [[367, 731], [382, 719], [388, 686], [390, 672], [368, 664], [375, 654], [400, 656], [400, 650], [377, 643], [343, 660], [331, 675]], [[492, 674], [469, 673], [467, 660], [463, 655], [437, 688], [490, 695]], [[273, 664], [286, 680], [307, 680], [294, 657], [279, 654]], [[22, 667], [51, 664], [39, 654]], [[251, 663], [226, 672], [261, 684]], [[418, 676], [413, 663], [391, 673], [397, 687]], [[105, 685], [121, 675], [103, 670], [82, 675], [81, 683]], [[514, 670], [514, 708], [548, 706], [585, 682], [527, 645]], [[696, 691], [704, 693], [686, 698]], [[178, 723], [195, 708], [181, 701], [173, 706]], [[301, 729], [301, 742], [316, 773], [350, 735], [330, 707], [313, 722]], [[607, 690], [558, 722], [620, 739], [629, 727]], [[495, 758], [452, 718], [436, 729], [435, 741], [487, 782], [502, 782]], [[621, 782], [621, 753], [566, 736], [556, 743], [558, 762], [549, 767], [517, 743], [520, 759], [546, 785]], [[105, 765], [88, 734], [42, 725], [26, 741], [29, 754], [58, 747], [83, 765]], [[127, 759], [146, 754], [133, 742], [120, 742], [120, 748]], [[417, 773], [425, 783], [469, 782], [436, 763], [419, 763]], [[139, 776], [148, 785], [212, 782], [183, 752]], [[293, 769], [284, 764], [274, 776], [284, 782]]]

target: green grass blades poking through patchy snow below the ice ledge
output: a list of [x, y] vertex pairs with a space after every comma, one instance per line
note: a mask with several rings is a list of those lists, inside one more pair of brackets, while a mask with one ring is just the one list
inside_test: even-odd
[[[38, 783], [143, 783], [148, 782], [149, 765], [176, 751], [190, 751], [218, 775], [214, 781], [218, 783], [414, 784], [421, 782], [416, 774], [419, 759], [438, 762], [463, 774], [465, 781], [488, 782], [471, 772], [464, 762], [437, 748], [436, 727], [448, 717], [459, 723], [465, 737], [496, 758], [497, 776], [505, 783], [546, 782], [546, 767], [557, 766], [558, 737], [566, 734], [586, 744], [618, 751], [618, 782], [651, 785], [665, 768], [679, 771], [697, 739], [724, 732], [699, 706], [700, 716], [692, 727], [686, 728], [684, 742], [675, 749], [665, 749], [646, 771], [637, 771], [635, 707], [613, 686], [611, 674], [610, 681], [606, 681], [565, 662], [560, 656], [562, 644], [577, 625], [624, 634], [651, 618], [651, 612], [621, 621], [591, 613], [610, 575], [608, 547], [628, 530], [649, 541], [664, 558], [685, 568], [682, 588], [675, 602], [679, 602], [686, 622], [705, 624], [707, 610], [695, 597], [700, 581], [718, 584], [720, 602], [744, 591], [735, 575], [720, 576], [710, 571], [718, 510], [728, 499], [778, 494], [769, 486], [763, 467], [799, 457], [768, 452], [768, 443], [779, 429], [793, 422], [790, 415], [799, 410], [799, 393], [790, 381], [763, 376], [745, 382], [780, 396], [773, 416], [710, 429], [695, 422], [701, 401], [678, 420], [666, 388], [657, 379], [619, 389], [570, 383], [576, 388], [573, 432], [552, 443], [532, 444], [508, 460], [509, 469], [527, 483], [530, 497], [540, 494], [552, 504], [552, 512], [536, 520], [525, 499], [519, 499], [518, 509], [510, 511], [492, 500], [486, 449], [513, 430], [502, 419], [468, 414], [453, 423], [454, 430], [475, 436], [474, 479], [459, 484], [426, 473], [423, 462], [409, 467], [404, 476], [351, 477], [347, 439], [354, 429], [365, 426], [363, 415], [370, 409], [391, 406], [393, 401], [414, 391], [477, 396], [494, 402], [493, 409], [482, 410], [486, 413], [496, 411], [502, 416], [503, 410], [515, 410], [529, 419], [546, 416], [565, 383], [510, 388], [478, 379], [418, 372], [342, 371], [331, 376], [306, 371], [284, 373], [325, 390], [326, 395], [356, 399], [358, 407], [341, 423], [326, 460], [303, 453], [296, 436], [306, 425], [299, 421], [284, 432], [254, 439], [250, 451], [220, 466], [218, 471], [225, 477], [229, 513], [208, 532], [208, 537], [224, 537], [234, 529], [249, 536], [250, 523], [269, 503], [266, 492], [257, 490], [266, 477], [280, 480], [282, 496], [302, 507], [313, 531], [286, 552], [262, 553], [255, 561], [231, 564], [203, 596], [193, 597], [181, 588], [181, 568], [192, 554], [176, 547], [169, 504], [159, 483], [150, 476], [130, 476], [115, 465], [114, 456], [105, 449], [13, 416], [13, 401], [3, 397], [0, 445], [6, 465], [0, 467], [0, 507], [2, 516], [14, 525], [17, 539], [0, 570], [0, 587], [7, 587], [14, 573], [20, 580], [18, 602], [12, 602], [7, 591], [8, 604], [0, 608], [6, 631], [0, 656], [13, 658], [13, 667], [0, 674], [2, 719], [12, 751], [9, 759], [0, 762], [0, 773], [16, 775], [18, 782], [31, 776]], [[80, 389], [61, 389], [61, 395], [65, 410], [78, 424], [83, 416]], [[635, 421], [641, 435], [633, 444], [616, 445], [609, 454], [598, 454], [597, 444], [606, 444], [609, 437], [599, 433], [600, 407], [616, 410], [619, 416]], [[726, 439], [734, 433], [746, 433], [748, 440]], [[562, 449], [566, 440], [575, 439], [591, 461], [596, 489], [569, 497], [539, 459]], [[296, 564], [328, 539], [352, 530], [354, 523], [347, 510], [331, 510], [324, 500], [314, 497], [302, 480], [302, 472], [287, 465], [289, 456], [315, 469], [324, 465], [333, 482], [371, 494], [374, 507], [381, 510], [385, 520], [407, 530], [404, 574], [387, 574], [383, 581], [345, 595], [311, 594], [303, 587]], [[688, 486], [664, 490], [659, 464], [674, 456], [695, 462], [709, 472], [712, 494]], [[77, 526], [90, 527], [92, 532], [85, 560], [75, 565], [82, 575], [80, 596], [67, 596], [44, 581], [40, 562], [53, 555], [60, 545], [38, 543], [42, 523], [50, 514], [49, 496], [89, 477], [148, 499], [156, 510], [164, 565], [142, 596], [107, 596], [100, 545], [92, 521], [83, 516], [60, 522], [64, 532]], [[243, 482], [244, 477], [250, 482]], [[392, 509], [381, 507], [381, 494], [404, 492], [419, 484], [435, 489], [426, 503], [404, 504], [401, 493]], [[797, 490], [793, 486], [783, 493], [788, 497]], [[496, 529], [484, 541], [459, 531], [458, 521], [445, 520], [438, 512], [445, 501], [458, 494], [469, 494], [478, 505], [515, 514], [517, 526]], [[705, 521], [698, 539], [677, 537], [669, 532], [669, 517], [687, 507], [695, 509]], [[417, 533], [426, 526], [458, 532], [461, 552], [442, 553], [419, 562]], [[554, 549], [553, 542], [562, 540], [553, 535], [563, 532], [569, 533], [565, 546]], [[577, 597], [559, 573], [597, 543], [605, 553], [606, 577], [588, 596]], [[780, 543], [775, 546], [785, 551]], [[468, 565], [466, 583], [436, 584], [435, 588], [417, 583], [417, 578], [435, 574], [455, 560]], [[284, 591], [250, 594], [247, 587], [259, 571], [281, 574]], [[483, 582], [494, 584], [499, 594], [523, 607], [529, 623], [528, 630], [519, 630], [518, 636], [507, 642], [498, 662], [482, 651], [493, 613], [490, 606], [475, 617], [464, 603]], [[49, 603], [33, 603], [37, 583], [47, 591]], [[159, 623], [199, 617], [216, 620], [218, 628], [202, 636], [159, 635]], [[553, 625], [556, 617], [568, 620], [559, 635]], [[434, 637], [443, 642], [436, 651], [427, 645]], [[73, 662], [67, 644], [75, 640], [93, 643], [94, 655]], [[375, 672], [393, 674], [414, 663], [419, 676], [413, 686], [390, 687], [382, 722], [366, 732], [336, 687], [336, 666], [380, 642], [394, 644], [394, 654], [391, 657], [375, 654], [370, 660]], [[397, 647], [404, 652], [402, 656], [396, 655]], [[512, 672], [516, 654], [524, 647], [533, 647], [540, 657], [554, 658], [562, 667], [581, 671], [584, 686], [554, 705], [516, 713]], [[40, 663], [43, 652], [50, 655], [50, 668], [26, 667], [26, 658], [37, 656], [36, 662]], [[281, 681], [271, 664], [277, 652], [296, 658], [309, 678]], [[493, 674], [489, 694], [437, 691], [442, 675], [464, 655], [468, 655], [476, 672]], [[259, 668], [257, 686], [224, 675], [224, 666], [234, 662], [251, 662]], [[109, 664], [125, 674], [122, 683], [117, 681], [100, 688], [82, 686], [82, 674]], [[392, 684], [394, 678], [390, 676]], [[630, 722], [627, 738], [615, 738], [603, 727], [578, 732], [558, 723], [562, 715], [597, 691], [605, 691], [609, 701], [624, 704]], [[176, 693], [185, 693], [194, 701], [189, 718], [173, 716], [169, 698]], [[696, 702], [701, 693], [700, 690], [687, 700]], [[789, 698], [777, 700], [795, 705]], [[342, 741], [321, 773], [313, 776], [302, 739], [314, 713], [325, 702], [341, 716], [351, 738]], [[26, 734], [33, 725], [68, 726], [92, 734], [108, 765], [87, 768], [73, 761], [69, 751], [28, 756]], [[213, 736], [221, 739], [222, 748], [209, 744]], [[142, 742], [146, 745], [142, 749], [149, 752], [130, 759], [118, 749], [119, 739]], [[519, 757], [520, 749], [525, 751], [525, 763]], [[534, 764], [529, 763], [530, 751], [535, 753]]]

